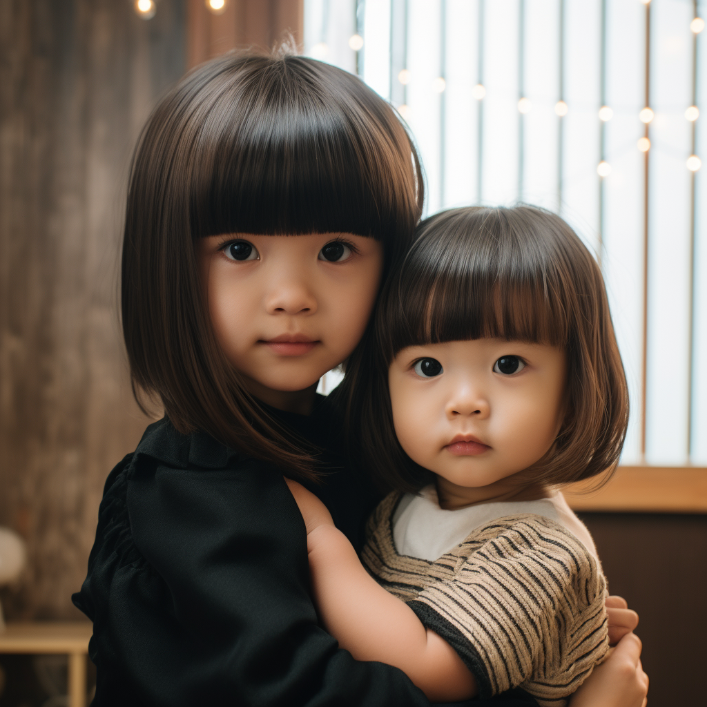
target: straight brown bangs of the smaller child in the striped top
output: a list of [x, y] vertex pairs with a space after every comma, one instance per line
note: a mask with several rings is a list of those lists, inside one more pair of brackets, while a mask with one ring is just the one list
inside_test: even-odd
[[388, 364], [407, 346], [445, 341], [568, 346], [578, 315], [573, 244], [560, 234], [568, 227], [538, 209], [527, 215], [524, 207], [456, 209], [420, 224], [381, 303], [377, 332]]

